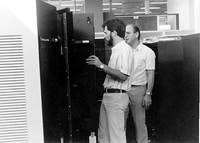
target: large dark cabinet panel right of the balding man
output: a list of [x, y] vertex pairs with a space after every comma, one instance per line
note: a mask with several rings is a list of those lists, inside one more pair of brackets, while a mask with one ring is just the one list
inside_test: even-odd
[[160, 142], [198, 142], [199, 35], [158, 43], [157, 134]]

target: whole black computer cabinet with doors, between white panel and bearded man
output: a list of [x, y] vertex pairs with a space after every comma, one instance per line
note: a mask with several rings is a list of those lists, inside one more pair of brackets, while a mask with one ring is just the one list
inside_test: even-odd
[[92, 14], [73, 14], [37, 2], [45, 142], [87, 140], [96, 129], [96, 76]]

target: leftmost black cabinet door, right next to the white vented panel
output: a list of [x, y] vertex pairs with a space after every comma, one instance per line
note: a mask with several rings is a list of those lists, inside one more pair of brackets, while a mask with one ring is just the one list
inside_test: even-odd
[[61, 142], [67, 123], [66, 73], [56, 7], [37, 1], [39, 59], [45, 143]]

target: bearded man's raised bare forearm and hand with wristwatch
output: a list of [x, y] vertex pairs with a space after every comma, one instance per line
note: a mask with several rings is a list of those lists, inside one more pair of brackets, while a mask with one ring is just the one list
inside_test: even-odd
[[119, 70], [104, 65], [95, 55], [92, 55], [89, 58], [87, 58], [86, 63], [101, 68], [105, 73], [109, 74], [113, 78], [117, 78], [118, 80], [125, 81], [128, 78], [128, 75], [121, 73]]

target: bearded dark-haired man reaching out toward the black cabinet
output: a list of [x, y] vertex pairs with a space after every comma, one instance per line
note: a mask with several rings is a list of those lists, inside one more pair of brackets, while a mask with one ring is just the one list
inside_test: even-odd
[[94, 55], [86, 59], [89, 65], [95, 65], [107, 74], [100, 109], [98, 140], [99, 143], [126, 143], [124, 113], [129, 104], [126, 91], [129, 88], [131, 74], [132, 48], [123, 40], [123, 21], [111, 19], [102, 27], [104, 38], [113, 46], [109, 63], [103, 64]]

